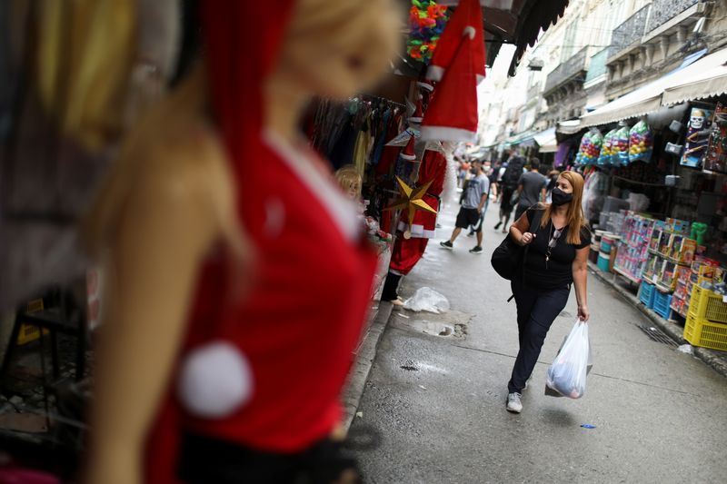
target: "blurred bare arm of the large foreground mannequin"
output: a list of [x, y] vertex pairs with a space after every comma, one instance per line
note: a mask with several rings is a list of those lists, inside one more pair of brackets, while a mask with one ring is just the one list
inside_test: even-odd
[[232, 195], [219, 173], [224, 159], [214, 143], [192, 138], [144, 156], [118, 222], [97, 351], [89, 484], [143, 482], [146, 433], [184, 337], [200, 262], [229, 232], [220, 219], [233, 212], [219, 204], [220, 193]]

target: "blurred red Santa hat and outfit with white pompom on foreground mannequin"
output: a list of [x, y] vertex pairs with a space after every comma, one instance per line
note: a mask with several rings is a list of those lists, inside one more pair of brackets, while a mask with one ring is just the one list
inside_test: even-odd
[[[286, 481], [285, 456], [319, 449], [341, 421], [339, 398], [377, 257], [324, 163], [306, 146], [264, 132], [262, 80], [293, 6], [201, 4], [214, 119], [256, 266], [252, 288], [235, 298], [226, 252], [204, 263], [179, 361], [149, 432], [150, 484], [179, 482], [178, 475], [223, 481], [200, 476], [216, 469], [244, 473], [240, 482], [271, 472]], [[320, 467], [297, 461], [303, 464]]]

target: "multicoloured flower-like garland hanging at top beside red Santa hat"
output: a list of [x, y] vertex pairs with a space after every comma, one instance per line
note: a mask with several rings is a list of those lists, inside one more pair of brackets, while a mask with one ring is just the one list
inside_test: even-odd
[[446, 24], [446, 6], [437, 5], [433, 0], [412, 0], [409, 10], [412, 33], [406, 41], [406, 53], [413, 59], [429, 64]]

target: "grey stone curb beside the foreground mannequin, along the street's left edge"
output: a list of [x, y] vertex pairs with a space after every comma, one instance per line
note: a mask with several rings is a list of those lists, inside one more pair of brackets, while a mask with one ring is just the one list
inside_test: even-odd
[[379, 301], [378, 310], [373, 314], [372, 321], [366, 328], [366, 333], [356, 351], [356, 360], [348, 375], [348, 384], [344, 390], [344, 430], [347, 432], [356, 416], [361, 397], [364, 395], [366, 381], [376, 358], [376, 351], [383, 336], [383, 331], [389, 323], [393, 311], [391, 302]]

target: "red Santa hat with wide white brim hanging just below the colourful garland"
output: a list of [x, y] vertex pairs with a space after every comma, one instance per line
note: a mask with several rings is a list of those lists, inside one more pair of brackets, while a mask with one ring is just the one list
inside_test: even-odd
[[[482, 27], [480, 27], [482, 30]], [[477, 80], [472, 58], [478, 41], [463, 35], [453, 62], [437, 84], [422, 123], [424, 140], [474, 143], [477, 135]], [[480, 45], [481, 46], [481, 45]]]

